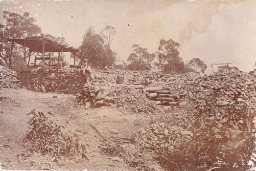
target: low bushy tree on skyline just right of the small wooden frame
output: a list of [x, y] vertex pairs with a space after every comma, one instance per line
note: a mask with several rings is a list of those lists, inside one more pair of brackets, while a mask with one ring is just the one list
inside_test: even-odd
[[150, 54], [146, 48], [140, 47], [138, 44], [132, 46], [134, 49], [127, 59], [129, 70], [149, 70], [152, 68], [152, 61], [155, 54]]

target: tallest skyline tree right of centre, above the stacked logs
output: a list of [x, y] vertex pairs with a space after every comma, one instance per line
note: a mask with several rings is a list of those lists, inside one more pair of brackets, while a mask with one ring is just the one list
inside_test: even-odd
[[179, 43], [173, 40], [161, 40], [158, 48], [158, 60], [160, 68], [163, 72], [171, 73], [182, 73], [184, 72], [185, 64], [182, 58], [179, 57], [178, 47]]

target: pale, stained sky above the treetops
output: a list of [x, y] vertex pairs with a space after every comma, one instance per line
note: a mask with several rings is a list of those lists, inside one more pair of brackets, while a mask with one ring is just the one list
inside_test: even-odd
[[127, 60], [133, 44], [154, 53], [160, 40], [172, 39], [185, 64], [200, 58], [208, 74], [214, 63], [256, 68], [256, 0], [0, 0], [4, 10], [29, 12], [43, 33], [75, 48], [89, 26], [99, 34], [112, 25], [117, 34], [111, 49], [119, 60]]

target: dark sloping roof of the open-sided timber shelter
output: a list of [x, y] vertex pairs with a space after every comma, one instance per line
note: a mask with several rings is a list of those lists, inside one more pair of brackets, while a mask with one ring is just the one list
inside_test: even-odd
[[28, 47], [33, 52], [43, 53], [43, 44], [45, 41], [45, 52], [79, 52], [79, 49], [69, 47], [66, 44], [60, 44], [58, 42], [52, 41], [45, 37], [30, 37], [30, 38], [9, 38], [9, 41], [14, 41], [23, 46]]

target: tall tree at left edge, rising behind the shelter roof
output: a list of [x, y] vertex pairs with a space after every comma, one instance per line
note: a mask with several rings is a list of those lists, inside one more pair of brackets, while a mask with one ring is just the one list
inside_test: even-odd
[[14, 51], [20, 47], [23, 51], [23, 61], [28, 57], [26, 47], [18, 46], [15, 43], [8, 42], [8, 38], [25, 38], [37, 36], [41, 33], [41, 28], [35, 25], [35, 19], [25, 12], [23, 16], [17, 13], [3, 12], [3, 24], [0, 24], [0, 59], [12, 66], [12, 55], [18, 54]]

